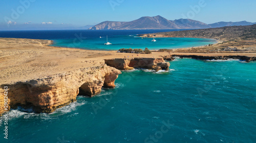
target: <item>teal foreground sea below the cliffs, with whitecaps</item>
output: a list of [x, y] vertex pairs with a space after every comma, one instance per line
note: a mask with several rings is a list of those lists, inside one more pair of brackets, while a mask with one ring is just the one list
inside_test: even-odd
[[11, 110], [8, 141], [255, 142], [255, 83], [256, 62], [177, 59], [168, 72], [123, 71], [116, 89], [53, 113]]

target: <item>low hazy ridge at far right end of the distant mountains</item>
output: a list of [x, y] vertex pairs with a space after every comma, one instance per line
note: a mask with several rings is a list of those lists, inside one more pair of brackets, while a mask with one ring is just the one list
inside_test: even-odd
[[217, 23], [212, 23], [209, 24], [212, 28], [217, 28], [217, 27], [224, 27], [224, 26], [246, 26], [246, 25], [252, 25], [256, 24], [252, 22], [247, 22], [247, 21], [240, 21], [240, 22], [217, 22]]

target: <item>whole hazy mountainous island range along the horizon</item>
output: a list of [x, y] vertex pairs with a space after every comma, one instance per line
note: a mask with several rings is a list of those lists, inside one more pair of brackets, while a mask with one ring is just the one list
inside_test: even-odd
[[199, 29], [252, 24], [255, 23], [240, 21], [216, 22], [212, 24], [206, 24], [192, 19], [168, 20], [158, 15], [154, 17], [144, 16], [129, 22], [104, 21], [97, 25], [92, 26], [88, 30]]

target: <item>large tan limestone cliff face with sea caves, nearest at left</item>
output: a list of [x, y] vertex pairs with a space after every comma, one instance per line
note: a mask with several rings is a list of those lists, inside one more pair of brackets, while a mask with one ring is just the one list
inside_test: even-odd
[[[56, 108], [76, 101], [78, 93], [94, 96], [101, 92], [102, 87], [114, 88], [115, 80], [121, 72], [103, 65], [83, 68], [63, 74], [55, 74], [29, 81], [1, 85], [8, 86], [9, 109], [33, 107], [35, 112], [52, 112]], [[4, 111], [4, 95], [0, 95], [0, 114]]]

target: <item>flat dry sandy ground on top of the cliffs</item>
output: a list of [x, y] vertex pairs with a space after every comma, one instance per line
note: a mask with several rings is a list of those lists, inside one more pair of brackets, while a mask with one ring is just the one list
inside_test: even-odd
[[[0, 84], [35, 79], [89, 66], [99, 66], [103, 59], [159, 58], [168, 52], [152, 54], [118, 53], [117, 51], [83, 50], [48, 46], [52, 41], [0, 38]], [[172, 52], [171, 54], [188, 54]], [[247, 55], [256, 53], [189, 53], [195, 55]]]

